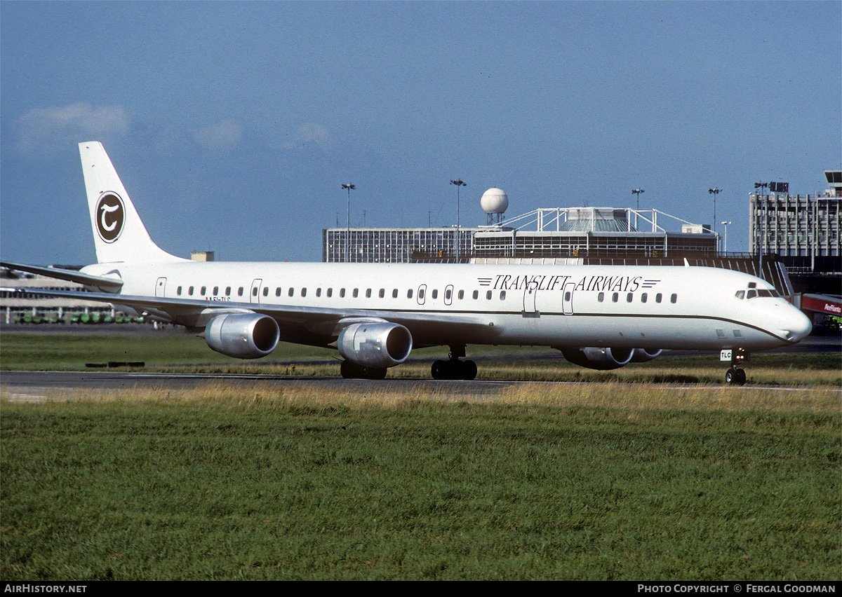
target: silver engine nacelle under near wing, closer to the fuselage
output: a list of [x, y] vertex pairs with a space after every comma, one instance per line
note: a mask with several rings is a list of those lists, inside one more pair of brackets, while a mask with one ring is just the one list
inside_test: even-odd
[[407, 360], [413, 336], [405, 327], [387, 321], [352, 324], [339, 332], [339, 354], [363, 367], [393, 367]]

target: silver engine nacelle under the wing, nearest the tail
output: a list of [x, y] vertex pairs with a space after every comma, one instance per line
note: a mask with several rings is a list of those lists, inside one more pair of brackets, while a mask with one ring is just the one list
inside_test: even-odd
[[205, 325], [205, 341], [208, 346], [228, 357], [265, 357], [278, 346], [279, 339], [278, 322], [269, 315], [216, 315]]

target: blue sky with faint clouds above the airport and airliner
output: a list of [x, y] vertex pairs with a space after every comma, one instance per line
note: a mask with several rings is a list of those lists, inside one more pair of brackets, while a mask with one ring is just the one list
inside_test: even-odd
[[[181, 256], [319, 261], [323, 227], [660, 209], [748, 249], [754, 182], [842, 166], [839, 2], [3, 2], [0, 252], [94, 262], [101, 140]], [[719, 227], [721, 230], [721, 226]]]

